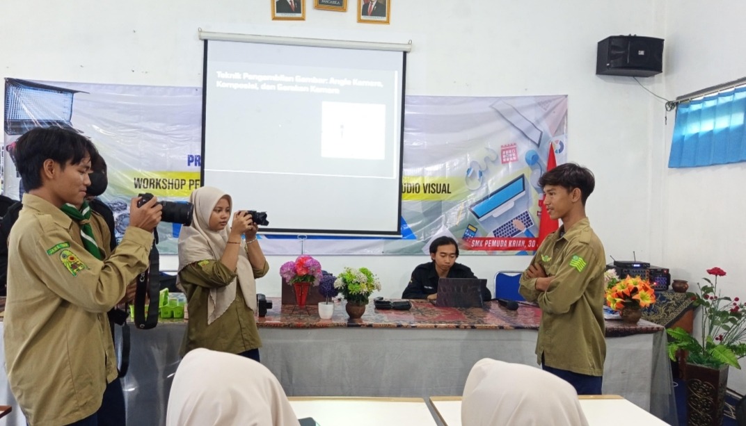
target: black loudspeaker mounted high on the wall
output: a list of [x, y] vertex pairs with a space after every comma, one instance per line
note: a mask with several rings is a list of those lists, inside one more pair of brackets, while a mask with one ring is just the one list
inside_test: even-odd
[[596, 74], [650, 77], [663, 71], [663, 39], [610, 36], [598, 42]]

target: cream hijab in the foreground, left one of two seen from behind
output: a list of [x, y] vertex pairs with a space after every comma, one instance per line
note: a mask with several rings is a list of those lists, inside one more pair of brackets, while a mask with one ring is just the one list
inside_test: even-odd
[[299, 426], [280, 382], [257, 361], [198, 348], [176, 369], [166, 426]]

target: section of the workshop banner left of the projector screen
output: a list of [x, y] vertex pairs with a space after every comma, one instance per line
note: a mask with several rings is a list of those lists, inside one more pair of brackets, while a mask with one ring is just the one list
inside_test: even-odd
[[[19, 200], [13, 147], [33, 127], [59, 126], [89, 137], [107, 162], [101, 196], [114, 212], [116, 238], [129, 225], [132, 197], [185, 201], [200, 186], [202, 91], [5, 79], [3, 194]], [[175, 253], [178, 223], [158, 226], [160, 252]]]

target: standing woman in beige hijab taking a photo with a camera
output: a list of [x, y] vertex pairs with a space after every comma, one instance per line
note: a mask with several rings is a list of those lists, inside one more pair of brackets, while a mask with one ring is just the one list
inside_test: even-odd
[[269, 265], [257, 241], [257, 225], [250, 214], [235, 212], [229, 226], [233, 201], [217, 188], [198, 188], [189, 202], [195, 219], [179, 235], [178, 283], [189, 310], [181, 354], [207, 348], [259, 361], [254, 279], [265, 276]]

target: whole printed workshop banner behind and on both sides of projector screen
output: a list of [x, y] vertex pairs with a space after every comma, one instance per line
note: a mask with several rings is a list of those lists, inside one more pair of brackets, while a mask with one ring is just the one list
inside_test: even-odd
[[[6, 79], [4, 194], [23, 193], [13, 144], [26, 130], [57, 125], [89, 136], [108, 165], [101, 196], [129, 223], [131, 197], [184, 201], [201, 185], [199, 88]], [[550, 144], [566, 161], [567, 97], [409, 96], [404, 108], [401, 238], [260, 235], [268, 255], [419, 255], [450, 235], [462, 255], [536, 249], [538, 179]], [[268, 212], [272, 220], [272, 212]], [[180, 226], [158, 227], [162, 253], [176, 252]]]

